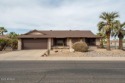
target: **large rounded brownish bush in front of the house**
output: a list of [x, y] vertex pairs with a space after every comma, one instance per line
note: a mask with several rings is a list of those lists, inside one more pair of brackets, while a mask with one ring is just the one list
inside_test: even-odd
[[76, 42], [73, 44], [72, 48], [78, 52], [87, 52], [89, 47], [85, 42]]

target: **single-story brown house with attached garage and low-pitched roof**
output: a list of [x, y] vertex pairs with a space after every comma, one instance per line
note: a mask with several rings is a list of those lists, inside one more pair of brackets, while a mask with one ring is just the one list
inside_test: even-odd
[[89, 46], [100, 44], [100, 38], [87, 30], [33, 30], [20, 35], [18, 50], [22, 49], [72, 49], [73, 43], [85, 41]]

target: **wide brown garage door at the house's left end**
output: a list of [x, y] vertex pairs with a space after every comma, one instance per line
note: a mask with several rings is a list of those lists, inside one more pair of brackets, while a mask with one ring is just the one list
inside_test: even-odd
[[23, 39], [23, 49], [47, 49], [47, 39]]

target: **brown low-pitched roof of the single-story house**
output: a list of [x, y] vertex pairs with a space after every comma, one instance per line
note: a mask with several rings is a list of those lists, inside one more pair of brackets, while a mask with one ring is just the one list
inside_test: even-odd
[[[39, 32], [41, 35], [31, 35], [29, 33]], [[97, 37], [89, 30], [33, 30], [29, 31], [26, 34], [20, 35], [18, 38], [65, 38], [65, 37], [88, 37], [95, 38]]]

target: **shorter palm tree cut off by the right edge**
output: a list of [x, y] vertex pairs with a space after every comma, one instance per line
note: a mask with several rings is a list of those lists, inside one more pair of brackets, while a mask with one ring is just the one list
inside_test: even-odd
[[123, 38], [125, 35], [125, 22], [121, 23], [119, 20], [116, 21], [114, 30], [112, 32], [112, 36], [119, 38], [119, 49], [123, 49]]

